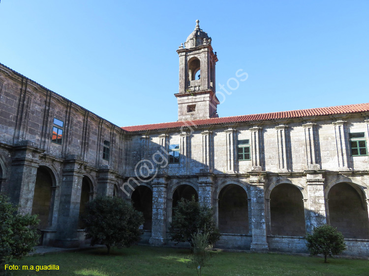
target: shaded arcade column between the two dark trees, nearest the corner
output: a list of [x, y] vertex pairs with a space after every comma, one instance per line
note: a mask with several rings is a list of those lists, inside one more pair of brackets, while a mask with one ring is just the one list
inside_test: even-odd
[[150, 238], [152, 245], [164, 245], [167, 243], [166, 220], [167, 220], [167, 187], [165, 176], [157, 175], [153, 185], [153, 226]]

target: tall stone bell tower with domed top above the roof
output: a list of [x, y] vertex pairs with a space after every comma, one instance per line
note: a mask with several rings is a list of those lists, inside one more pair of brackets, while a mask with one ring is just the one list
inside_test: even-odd
[[200, 29], [196, 20], [195, 30], [177, 50], [180, 56], [180, 91], [175, 94], [178, 102], [178, 120], [208, 119], [218, 117], [215, 96], [215, 63], [212, 38]]

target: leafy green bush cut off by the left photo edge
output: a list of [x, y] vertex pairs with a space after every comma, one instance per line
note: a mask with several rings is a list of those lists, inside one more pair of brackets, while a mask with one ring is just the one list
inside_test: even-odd
[[20, 259], [39, 242], [36, 215], [17, 214], [8, 198], [0, 194], [0, 266], [15, 258]]

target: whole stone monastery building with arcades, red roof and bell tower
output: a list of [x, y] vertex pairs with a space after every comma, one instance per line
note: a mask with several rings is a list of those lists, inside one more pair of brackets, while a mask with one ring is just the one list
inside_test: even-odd
[[329, 223], [346, 253], [369, 256], [369, 103], [218, 117], [218, 58], [198, 21], [177, 53], [178, 121], [130, 127], [0, 64], [0, 193], [39, 215], [40, 243], [83, 243], [99, 194], [143, 212], [142, 242], [171, 243], [172, 209], [194, 195], [214, 208], [218, 248], [305, 252]]

